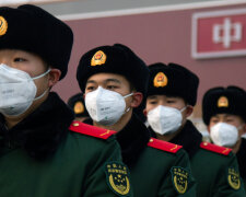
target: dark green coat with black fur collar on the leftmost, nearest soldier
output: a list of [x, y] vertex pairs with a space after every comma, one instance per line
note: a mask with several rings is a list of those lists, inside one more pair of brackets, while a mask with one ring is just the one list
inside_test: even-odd
[[[94, 135], [98, 137], [73, 132], [69, 130], [72, 119], [66, 104], [50, 94], [12, 129], [0, 123], [1, 197], [118, 196], [105, 173], [107, 162], [121, 161], [115, 136], [102, 139], [99, 132]], [[78, 129], [96, 132], [97, 128], [90, 127]]]

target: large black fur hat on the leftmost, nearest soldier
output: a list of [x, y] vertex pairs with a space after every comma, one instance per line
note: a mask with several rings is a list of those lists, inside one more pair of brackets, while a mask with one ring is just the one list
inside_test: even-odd
[[61, 71], [60, 79], [67, 73], [72, 43], [71, 28], [38, 7], [0, 8], [0, 49], [36, 54]]

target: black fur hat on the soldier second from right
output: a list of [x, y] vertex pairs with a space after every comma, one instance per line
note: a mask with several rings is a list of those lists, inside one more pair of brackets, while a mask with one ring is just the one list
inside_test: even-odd
[[199, 78], [176, 63], [168, 66], [157, 62], [149, 66], [150, 81], [148, 96], [172, 95], [183, 97], [188, 104], [196, 105]]

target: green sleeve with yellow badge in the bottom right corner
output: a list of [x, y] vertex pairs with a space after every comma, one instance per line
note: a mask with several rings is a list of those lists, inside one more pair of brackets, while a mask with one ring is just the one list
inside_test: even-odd
[[[238, 163], [234, 153], [230, 153], [215, 177], [213, 197], [245, 197], [243, 179], [239, 176]], [[212, 164], [212, 163], [211, 163]]]

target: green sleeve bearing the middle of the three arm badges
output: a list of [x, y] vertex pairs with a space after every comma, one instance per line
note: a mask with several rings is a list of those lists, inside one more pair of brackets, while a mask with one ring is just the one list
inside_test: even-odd
[[196, 182], [191, 174], [188, 154], [181, 149], [176, 153], [176, 160], [169, 173], [163, 179], [159, 196], [195, 197]]

